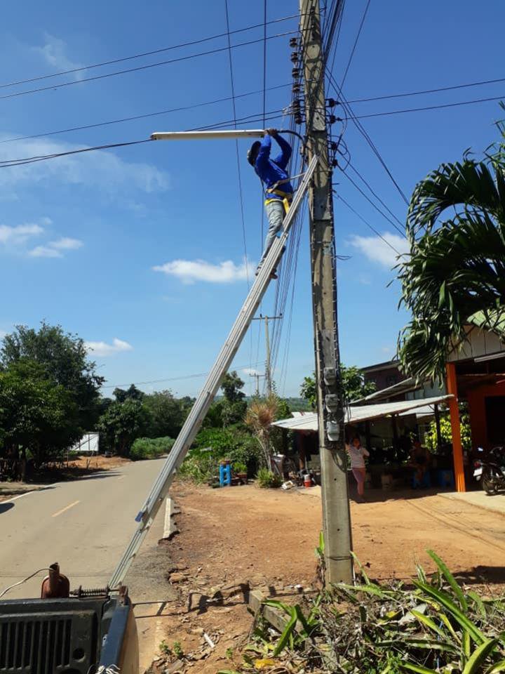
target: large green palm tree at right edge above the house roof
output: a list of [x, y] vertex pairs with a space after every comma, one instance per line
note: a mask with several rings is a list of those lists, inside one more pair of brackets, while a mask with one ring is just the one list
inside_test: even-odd
[[505, 339], [505, 125], [481, 161], [467, 151], [415, 188], [407, 218], [410, 255], [398, 264], [412, 319], [398, 338], [403, 369], [417, 379], [445, 374], [447, 352], [468, 326]]

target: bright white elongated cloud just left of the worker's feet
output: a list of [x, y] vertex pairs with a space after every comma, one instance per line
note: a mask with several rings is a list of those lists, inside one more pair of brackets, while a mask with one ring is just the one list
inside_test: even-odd
[[236, 265], [231, 260], [226, 260], [218, 265], [213, 265], [205, 260], [173, 260], [164, 265], [152, 267], [155, 272], [163, 272], [170, 276], [175, 276], [182, 283], [191, 284], [196, 281], [205, 281], [207, 283], [234, 283], [243, 281], [252, 275], [253, 267], [250, 263], [244, 262]]

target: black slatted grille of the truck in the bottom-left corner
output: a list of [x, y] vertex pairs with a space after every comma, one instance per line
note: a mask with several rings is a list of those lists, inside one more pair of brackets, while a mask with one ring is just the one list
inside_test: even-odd
[[70, 663], [71, 619], [0, 623], [0, 672], [53, 674]]

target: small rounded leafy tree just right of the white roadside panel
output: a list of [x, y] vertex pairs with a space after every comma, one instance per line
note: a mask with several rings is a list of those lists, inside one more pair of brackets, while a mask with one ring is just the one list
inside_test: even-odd
[[97, 423], [100, 440], [121, 456], [128, 456], [137, 437], [144, 435], [151, 421], [147, 407], [140, 400], [114, 402]]

